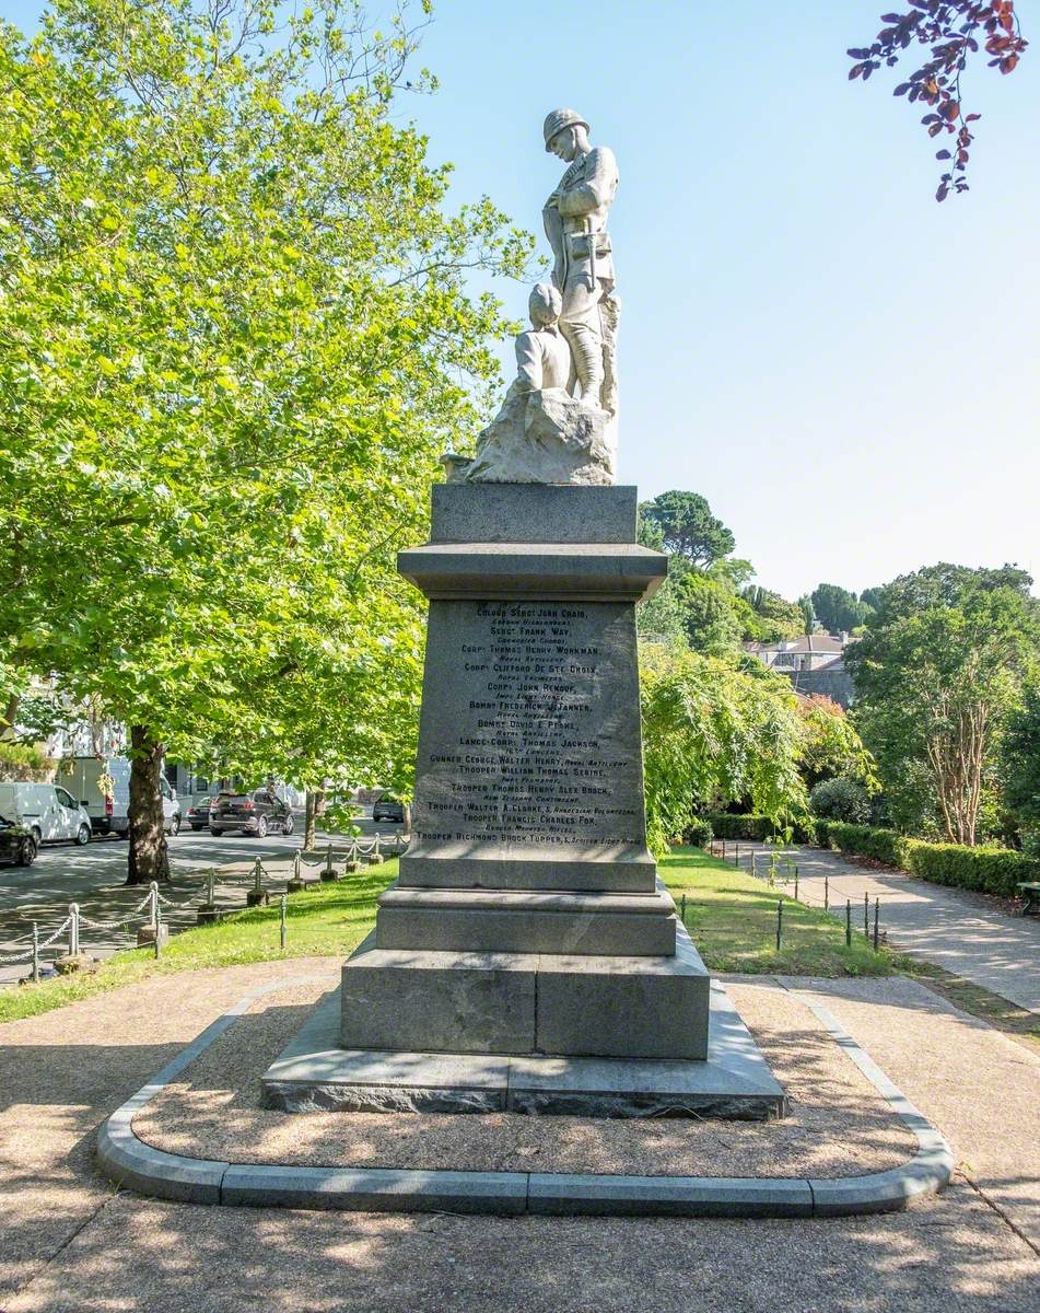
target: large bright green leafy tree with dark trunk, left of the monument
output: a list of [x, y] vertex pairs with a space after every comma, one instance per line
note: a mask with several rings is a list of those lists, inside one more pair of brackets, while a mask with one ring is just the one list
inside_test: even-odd
[[397, 104], [414, 43], [347, 0], [0, 28], [4, 668], [130, 727], [131, 881], [165, 873], [164, 750], [309, 779], [412, 742], [393, 553], [496, 378], [466, 273], [531, 248], [486, 200], [445, 213]]

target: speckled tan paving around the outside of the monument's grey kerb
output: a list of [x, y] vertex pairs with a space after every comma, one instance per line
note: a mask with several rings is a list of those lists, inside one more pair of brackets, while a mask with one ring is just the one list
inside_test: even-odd
[[0, 1027], [4, 1313], [1036, 1310], [1040, 1060], [898, 978], [797, 986], [953, 1145], [955, 1184], [906, 1213], [374, 1216], [113, 1194], [93, 1163], [98, 1123], [230, 1002], [284, 973], [271, 962], [159, 977]]

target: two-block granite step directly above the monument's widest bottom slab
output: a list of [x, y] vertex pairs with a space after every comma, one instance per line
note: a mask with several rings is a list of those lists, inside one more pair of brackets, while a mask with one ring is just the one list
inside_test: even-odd
[[675, 953], [654, 957], [378, 948], [373, 931], [343, 968], [340, 1043], [703, 1060], [708, 970], [682, 923], [668, 920]]

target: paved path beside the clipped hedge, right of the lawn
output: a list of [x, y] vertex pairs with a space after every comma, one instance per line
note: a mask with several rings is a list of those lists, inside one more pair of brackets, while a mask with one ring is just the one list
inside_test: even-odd
[[[731, 846], [727, 844], [727, 851]], [[766, 873], [767, 844], [739, 844], [747, 871], [756, 855]], [[880, 899], [880, 927], [899, 951], [922, 957], [981, 985], [1031, 1012], [1040, 1012], [1040, 916], [1015, 916], [993, 899], [961, 889], [931, 885], [899, 871], [869, 871], [826, 848], [792, 847], [798, 865], [798, 898], [823, 906], [825, 877], [831, 911], [844, 918], [852, 902], [852, 924], [863, 930], [863, 897]], [[785, 886], [791, 890], [792, 885]]]

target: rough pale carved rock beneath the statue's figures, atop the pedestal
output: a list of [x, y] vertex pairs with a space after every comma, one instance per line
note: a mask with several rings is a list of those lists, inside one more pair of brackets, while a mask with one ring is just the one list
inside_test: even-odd
[[477, 440], [471, 461], [449, 458], [449, 479], [467, 483], [611, 484], [613, 423], [562, 387], [524, 391], [513, 385]]

